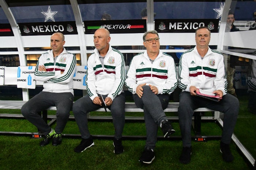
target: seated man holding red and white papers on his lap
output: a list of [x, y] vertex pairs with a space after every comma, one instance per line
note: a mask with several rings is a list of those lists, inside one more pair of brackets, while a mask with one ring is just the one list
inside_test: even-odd
[[[227, 79], [223, 55], [208, 47], [211, 32], [207, 27], [196, 29], [196, 47], [184, 52], [179, 64], [180, 104], [178, 117], [182, 136], [182, 153], [179, 158], [181, 163], [191, 160], [191, 125], [194, 110], [207, 107], [224, 113], [223, 131], [221, 138], [222, 158], [226, 162], [233, 161], [234, 157], [229, 149], [231, 136], [237, 121], [239, 101], [227, 93]], [[201, 96], [200, 89], [206, 90], [210, 95], [218, 95], [218, 102]]]

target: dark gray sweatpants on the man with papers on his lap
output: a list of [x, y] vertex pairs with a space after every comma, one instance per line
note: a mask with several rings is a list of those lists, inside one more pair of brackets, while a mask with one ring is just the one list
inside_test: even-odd
[[191, 146], [191, 125], [194, 110], [199, 107], [206, 107], [224, 113], [223, 130], [221, 141], [229, 144], [236, 125], [239, 112], [239, 101], [236, 97], [226, 94], [219, 102], [209, 99], [191, 96], [189, 92], [183, 91], [180, 94], [178, 117], [182, 136], [183, 147]]

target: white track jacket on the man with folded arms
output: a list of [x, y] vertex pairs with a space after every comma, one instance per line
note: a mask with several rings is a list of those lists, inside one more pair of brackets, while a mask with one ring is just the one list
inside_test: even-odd
[[[46, 71], [38, 71], [39, 66], [44, 66]], [[76, 56], [67, 52], [64, 48], [63, 52], [57, 57], [54, 64], [53, 52], [42, 54], [35, 67], [35, 80], [44, 82], [43, 91], [61, 93], [71, 92], [73, 90], [73, 76], [76, 70]], [[60, 71], [64, 71], [60, 74]]]

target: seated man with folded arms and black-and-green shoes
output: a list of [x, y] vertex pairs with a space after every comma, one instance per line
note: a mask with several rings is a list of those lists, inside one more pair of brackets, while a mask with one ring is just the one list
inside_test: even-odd
[[[74, 100], [73, 75], [76, 56], [65, 50], [64, 35], [53, 33], [50, 37], [52, 50], [42, 54], [35, 67], [35, 80], [44, 82], [44, 89], [35, 95], [22, 108], [22, 115], [34, 124], [45, 136], [40, 146], [61, 144], [61, 135], [68, 122], [69, 111]], [[51, 106], [56, 106], [56, 127], [52, 129], [38, 114]]]

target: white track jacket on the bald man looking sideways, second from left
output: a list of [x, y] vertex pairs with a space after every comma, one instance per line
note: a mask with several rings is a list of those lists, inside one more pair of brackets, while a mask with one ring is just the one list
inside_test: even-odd
[[91, 100], [98, 96], [97, 93], [108, 95], [113, 100], [123, 91], [125, 79], [123, 54], [109, 46], [103, 64], [102, 67], [99, 52], [95, 48], [87, 62], [86, 86]]

